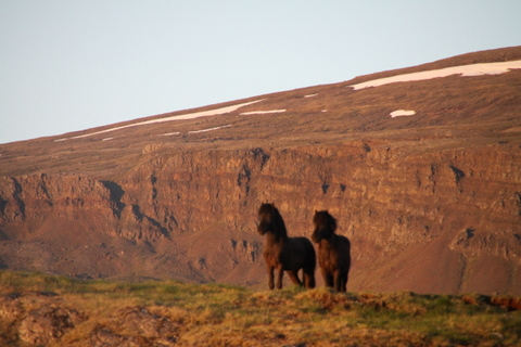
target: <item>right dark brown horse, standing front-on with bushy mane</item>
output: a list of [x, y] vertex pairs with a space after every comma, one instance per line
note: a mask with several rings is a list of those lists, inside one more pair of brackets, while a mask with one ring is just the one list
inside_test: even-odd
[[327, 286], [339, 292], [347, 290], [351, 268], [351, 243], [347, 237], [336, 235], [336, 220], [327, 210], [315, 211], [313, 241], [318, 244], [318, 264]]

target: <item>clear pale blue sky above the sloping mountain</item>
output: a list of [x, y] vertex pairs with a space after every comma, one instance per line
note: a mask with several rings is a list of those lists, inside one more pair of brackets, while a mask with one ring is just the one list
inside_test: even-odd
[[0, 0], [0, 143], [520, 46], [519, 0]]

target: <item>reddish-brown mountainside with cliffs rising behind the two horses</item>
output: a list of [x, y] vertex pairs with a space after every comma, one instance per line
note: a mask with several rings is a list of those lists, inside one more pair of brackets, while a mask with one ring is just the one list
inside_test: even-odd
[[348, 291], [521, 295], [521, 69], [351, 87], [520, 60], [475, 52], [1, 144], [0, 267], [264, 288], [255, 219], [274, 202], [290, 235], [316, 209], [338, 218]]

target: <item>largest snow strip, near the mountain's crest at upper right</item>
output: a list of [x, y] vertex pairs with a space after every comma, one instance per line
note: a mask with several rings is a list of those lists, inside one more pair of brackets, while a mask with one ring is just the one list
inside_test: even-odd
[[397, 75], [386, 78], [379, 78], [366, 82], [350, 86], [354, 90], [364, 89], [368, 87], [379, 87], [395, 82], [408, 82], [417, 80], [425, 80], [432, 78], [447, 77], [450, 75], [461, 76], [481, 76], [481, 75], [500, 75], [508, 73], [510, 69], [521, 68], [521, 61], [500, 62], [500, 63], [482, 63], [471, 65], [452, 66], [441, 69], [431, 69], [420, 73], [411, 73]]

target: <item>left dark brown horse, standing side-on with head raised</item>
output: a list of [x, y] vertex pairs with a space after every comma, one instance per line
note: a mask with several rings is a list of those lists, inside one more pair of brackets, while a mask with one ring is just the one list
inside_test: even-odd
[[[268, 270], [269, 288], [275, 287], [275, 269], [277, 288], [282, 287], [283, 271], [288, 272], [293, 283], [314, 288], [317, 260], [312, 242], [306, 237], [289, 237], [282, 216], [271, 204], [260, 205], [258, 217], [260, 221], [257, 231], [260, 235], [266, 235], [263, 255]], [[304, 272], [303, 281], [298, 279], [300, 269]]]

